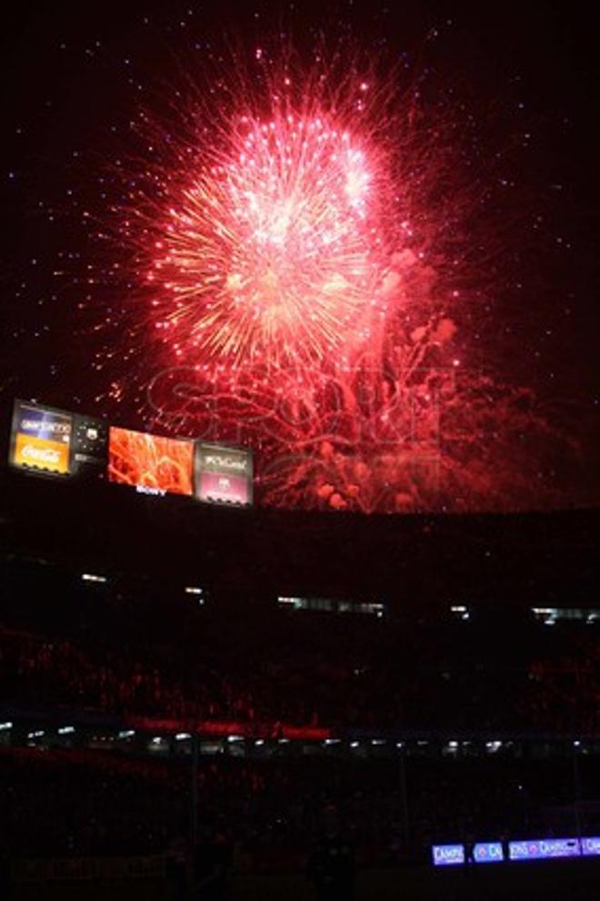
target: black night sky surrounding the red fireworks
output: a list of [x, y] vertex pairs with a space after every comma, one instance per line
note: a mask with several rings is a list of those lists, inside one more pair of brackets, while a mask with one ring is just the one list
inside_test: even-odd
[[[94, 401], [107, 378], [90, 366], [105, 341], [95, 326], [109, 301], [96, 286], [82, 307], [86, 267], [102, 263], [81, 212], [90, 205], [102, 218], [98, 176], [126, 152], [135, 106], [194, 80], [225, 35], [254, 47], [283, 33], [301, 53], [318, 35], [350, 35], [421, 73], [425, 93], [451, 86], [452, 102], [475, 118], [480, 172], [487, 153], [505, 153], [497, 234], [506, 249], [496, 254], [485, 353], [503, 379], [538, 393], [580, 449], [564, 473], [566, 502], [597, 503], [597, 25], [566, 3], [15, 5], [2, 37], [3, 403], [30, 397], [113, 415]], [[135, 404], [122, 406], [121, 420], [139, 427]]]

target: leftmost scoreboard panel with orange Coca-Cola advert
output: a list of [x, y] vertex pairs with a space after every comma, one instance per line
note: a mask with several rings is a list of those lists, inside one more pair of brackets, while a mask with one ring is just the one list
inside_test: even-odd
[[70, 413], [15, 400], [10, 462], [29, 471], [69, 475], [72, 433]]

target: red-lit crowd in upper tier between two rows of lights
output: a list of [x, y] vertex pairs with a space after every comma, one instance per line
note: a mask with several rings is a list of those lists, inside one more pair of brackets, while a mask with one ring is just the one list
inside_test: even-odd
[[[260, 618], [259, 618], [260, 619]], [[598, 627], [600, 629], [600, 627]], [[120, 716], [330, 728], [592, 734], [596, 627], [385, 623], [274, 611], [253, 627], [206, 612], [174, 640], [103, 629], [0, 633], [0, 703]]]

